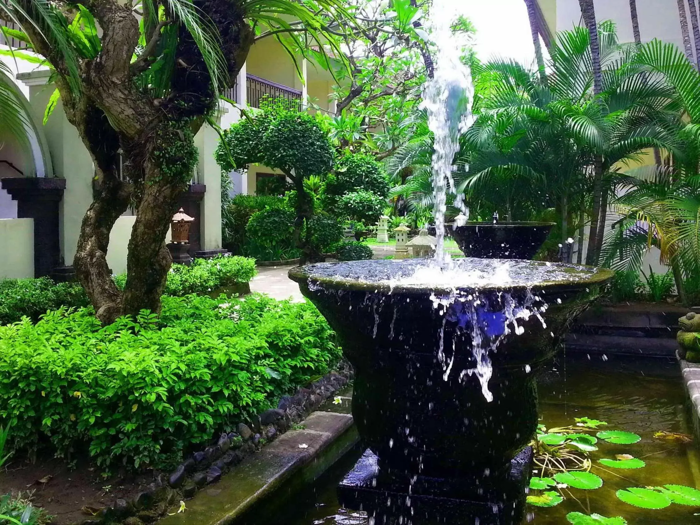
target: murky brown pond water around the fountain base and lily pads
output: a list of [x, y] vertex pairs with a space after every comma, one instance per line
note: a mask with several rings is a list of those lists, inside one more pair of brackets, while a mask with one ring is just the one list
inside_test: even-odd
[[[537, 525], [567, 524], [570, 512], [598, 513], [605, 517], [620, 516], [629, 525], [659, 523], [700, 523], [700, 506], [671, 504], [660, 510], [635, 507], [616, 496], [629, 487], [678, 484], [700, 487], [700, 470], [694, 444], [686, 444], [655, 433], [689, 433], [685, 391], [680, 381], [678, 363], [661, 358], [629, 359], [599, 356], [566, 356], [559, 353], [538, 381], [540, 423], [547, 428], [575, 426], [575, 418], [605, 421], [598, 430], [624, 430], [638, 434], [633, 444], [613, 444], [598, 440], [597, 451], [590, 453], [591, 472], [603, 479], [595, 490], [549, 487], [563, 496], [554, 507], [527, 506], [524, 523]], [[589, 430], [596, 435], [596, 430]], [[339, 505], [336, 486], [351, 469], [362, 451], [353, 450], [333, 468], [307, 486], [302, 493], [288, 498], [282, 512], [257, 514], [255, 525], [370, 525], [365, 512], [345, 510]], [[643, 468], [621, 469], [601, 465], [598, 460], [615, 460], [629, 454], [644, 461]], [[626, 457], [626, 456], [623, 456]], [[539, 472], [535, 475], [539, 475]], [[543, 491], [531, 491], [541, 494]], [[268, 508], [274, 508], [269, 505]], [[381, 520], [377, 520], [379, 524]], [[460, 521], [462, 523], [462, 521]], [[619, 522], [623, 523], [623, 522]], [[415, 523], [414, 525], [420, 525]], [[611, 524], [611, 525], [617, 525]]]

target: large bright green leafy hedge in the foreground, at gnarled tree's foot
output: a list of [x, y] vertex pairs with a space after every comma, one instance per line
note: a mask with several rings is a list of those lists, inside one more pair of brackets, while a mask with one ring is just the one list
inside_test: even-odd
[[102, 327], [92, 309], [0, 327], [0, 424], [9, 451], [85, 447], [102, 468], [166, 466], [335, 365], [309, 303], [163, 297]]

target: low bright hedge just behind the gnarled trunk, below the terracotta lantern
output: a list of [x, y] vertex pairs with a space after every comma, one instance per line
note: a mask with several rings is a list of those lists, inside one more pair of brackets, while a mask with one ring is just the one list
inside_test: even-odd
[[[247, 283], [257, 273], [255, 260], [239, 255], [219, 255], [213, 259], [195, 259], [189, 266], [174, 264], [165, 281], [164, 295], [182, 297], [190, 293], [209, 293], [219, 288]], [[124, 288], [126, 274], [114, 277]]]

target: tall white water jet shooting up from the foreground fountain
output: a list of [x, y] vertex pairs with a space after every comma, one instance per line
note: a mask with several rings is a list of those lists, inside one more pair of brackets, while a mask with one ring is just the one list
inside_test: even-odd
[[[435, 57], [435, 76], [426, 85], [421, 107], [428, 113], [428, 127], [435, 135], [433, 153], [433, 196], [437, 246], [435, 262], [444, 267], [449, 257], [444, 253], [444, 214], [447, 210], [447, 190], [456, 193], [452, 167], [459, 151], [459, 136], [474, 123], [472, 100], [474, 85], [467, 64], [462, 62], [462, 49], [451, 26], [457, 18], [454, 0], [435, 0], [430, 10], [433, 42], [439, 52]], [[463, 197], [455, 197], [461, 207]]]

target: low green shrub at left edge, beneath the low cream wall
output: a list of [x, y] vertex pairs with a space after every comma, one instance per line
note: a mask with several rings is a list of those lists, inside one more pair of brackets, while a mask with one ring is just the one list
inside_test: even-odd
[[0, 280], [0, 324], [19, 321], [22, 316], [38, 320], [41, 314], [62, 305], [84, 307], [90, 302], [79, 283], [55, 283], [39, 279]]

